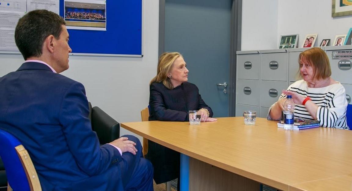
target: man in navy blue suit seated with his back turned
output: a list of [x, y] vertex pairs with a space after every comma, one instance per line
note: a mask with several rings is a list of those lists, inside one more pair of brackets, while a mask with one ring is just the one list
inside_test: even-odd
[[15, 41], [24, 59], [0, 78], [0, 128], [17, 137], [33, 160], [43, 190], [153, 190], [153, 169], [133, 136], [100, 146], [81, 83], [69, 68], [69, 34], [57, 14], [24, 15]]

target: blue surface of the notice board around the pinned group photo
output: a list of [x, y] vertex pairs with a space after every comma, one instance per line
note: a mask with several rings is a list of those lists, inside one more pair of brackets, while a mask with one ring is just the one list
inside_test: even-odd
[[[64, 0], [60, 0], [64, 17]], [[106, 1], [106, 31], [68, 29], [73, 54], [142, 55], [142, 0]]]

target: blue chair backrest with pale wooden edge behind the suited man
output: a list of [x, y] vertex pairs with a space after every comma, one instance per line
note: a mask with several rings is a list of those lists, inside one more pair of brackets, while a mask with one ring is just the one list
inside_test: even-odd
[[[27, 150], [12, 134], [0, 130], [0, 156], [13, 190], [41, 191], [39, 178]], [[10, 189], [11, 190], [11, 189]]]

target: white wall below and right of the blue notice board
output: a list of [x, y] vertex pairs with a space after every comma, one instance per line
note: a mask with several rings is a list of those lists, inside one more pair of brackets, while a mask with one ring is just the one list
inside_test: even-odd
[[[142, 58], [70, 56], [62, 74], [86, 87], [88, 100], [118, 122], [140, 121], [149, 103], [149, 81], [158, 62], [159, 1], [144, 1]], [[0, 76], [22, 64], [19, 54], [0, 54]], [[120, 135], [132, 134], [125, 129]], [[139, 137], [140, 138], [140, 137]]]

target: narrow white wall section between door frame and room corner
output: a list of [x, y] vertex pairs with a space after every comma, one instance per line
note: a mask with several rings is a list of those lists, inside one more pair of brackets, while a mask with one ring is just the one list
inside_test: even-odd
[[278, 0], [242, 1], [242, 51], [277, 48], [277, 5]]

